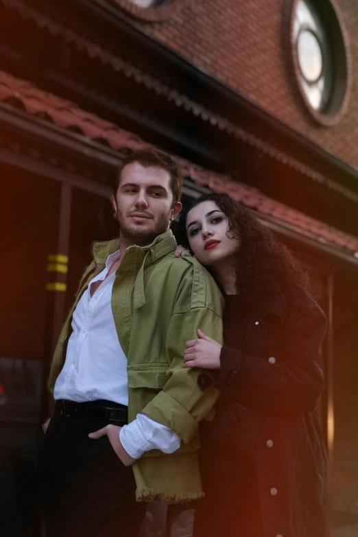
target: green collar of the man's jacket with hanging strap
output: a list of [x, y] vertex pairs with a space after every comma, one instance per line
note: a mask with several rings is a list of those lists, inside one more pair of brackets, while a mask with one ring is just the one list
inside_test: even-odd
[[[93, 245], [93, 259], [97, 265], [104, 265], [110, 254], [113, 254], [120, 248], [119, 240], [107, 242], [97, 242]], [[171, 254], [176, 249], [176, 239], [173, 232], [169, 229], [162, 235], [158, 235], [148, 246], [130, 246], [126, 248], [126, 255], [121, 262], [121, 270], [128, 270], [128, 266], [133, 267], [133, 260], [136, 260], [136, 280], [134, 284], [134, 309], [145, 305], [144, 294], [144, 269], [145, 266], [151, 265], [158, 259]], [[127, 266], [126, 266], [127, 265]], [[132, 270], [132, 269], [131, 269]]]

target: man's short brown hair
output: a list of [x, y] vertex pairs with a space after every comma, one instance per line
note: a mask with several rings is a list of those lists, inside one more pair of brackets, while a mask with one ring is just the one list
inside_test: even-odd
[[134, 151], [124, 158], [118, 170], [117, 179], [115, 182], [115, 194], [117, 193], [119, 183], [121, 182], [123, 168], [131, 163], [139, 163], [145, 168], [156, 167], [165, 169], [170, 176], [170, 188], [171, 193], [173, 194], [172, 206], [180, 201], [180, 197], [182, 195], [182, 175], [180, 174], [179, 165], [175, 158], [164, 151], [156, 149], [155, 147], [152, 149]]

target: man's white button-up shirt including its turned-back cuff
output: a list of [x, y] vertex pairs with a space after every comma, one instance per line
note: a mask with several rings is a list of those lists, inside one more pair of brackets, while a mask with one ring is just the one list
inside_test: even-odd
[[[119, 250], [108, 256], [106, 268], [93, 278], [73, 312], [66, 360], [53, 390], [56, 400], [82, 403], [106, 399], [128, 406], [127, 358], [111, 307], [115, 272], [106, 278], [119, 257]], [[99, 280], [103, 283], [91, 297], [91, 285]], [[174, 431], [145, 414], [122, 427], [120, 438], [124, 449], [135, 459], [150, 449], [173, 453], [180, 446]]]

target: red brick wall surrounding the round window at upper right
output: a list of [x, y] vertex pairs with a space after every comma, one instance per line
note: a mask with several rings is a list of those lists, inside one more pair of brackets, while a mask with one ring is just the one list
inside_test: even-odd
[[[121, 0], [116, 1], [121, 4]], [[122, 7], [128, 5], [128, 0], [123, 2]], [[176, 9], [163, 21], [141, 20], [146, 10], [134, 6], [132, 14], [138, 15], [136, 23], [145, 32], [327, 150], [358, 165], [358, 87], [354, 80], [358, 69], [358, 7], [356, 0], [335, 3], [350, 43], [353, 86], [346, 114], [331, 128], [315, 123], [289, 71], [290, 51], [283, 46], [289, 32], [284, 15], [286, 0], [182, 0], [180, 10], [176, 0]], [[148, 11], [160, 12], [160, 8]]]

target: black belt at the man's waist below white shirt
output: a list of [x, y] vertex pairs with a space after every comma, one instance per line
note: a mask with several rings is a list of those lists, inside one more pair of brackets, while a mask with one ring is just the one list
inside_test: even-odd
[[96, 401], [88, 401], [85, 403], [76, 403], [75, 401], [69, 401], [68, 399], [59, 399], [56, 401], [55, 414], [61, 414], [62, 416], [68, 416], [69, 418], [90, 418], [91, 420], [108, 420], [115, 422], [116, 425], [127, 425], [128, 423], [128, 407], [119, 405], [119, 403], [113, 403], [115, 406], [111, 407], [110, 402], [104, 406], [96, 404]]

